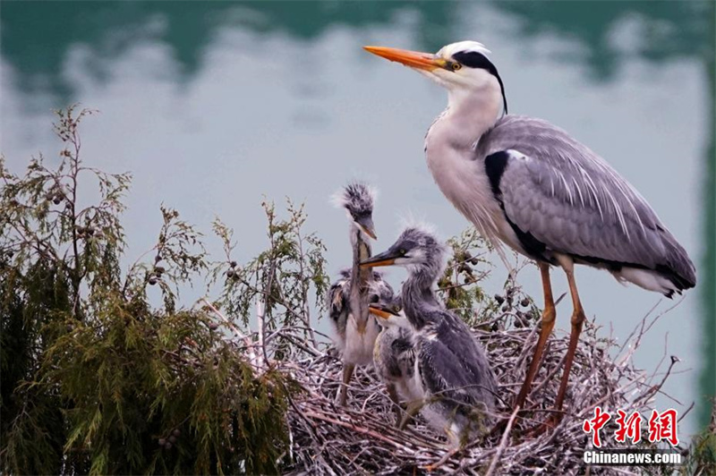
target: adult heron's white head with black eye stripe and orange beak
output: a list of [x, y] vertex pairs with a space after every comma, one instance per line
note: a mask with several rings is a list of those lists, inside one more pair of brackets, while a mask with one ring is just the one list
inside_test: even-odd
[[502, 79], [488, 55], [490, 50], [477, 41], [458, 41], [440, 48], [438, 53], [420, 53], [388, 47], [364, 47], [373, 55], [405, 64], [437, 82], [448, 91], [451, 104], [469, 98], [492, 100], [507, 114], [507, 98]]

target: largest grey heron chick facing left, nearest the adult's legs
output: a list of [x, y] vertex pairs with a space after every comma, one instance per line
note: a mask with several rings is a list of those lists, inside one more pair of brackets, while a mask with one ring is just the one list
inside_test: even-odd
[[[413, 404], [436, 429], [445, 431], [452, 446], [489, 420], [497, 382], [490, 364], [465, 322], [445, 309], [433, 287], [445, 268], [445, 247], [429, 231], [408, 227], [388, 251], [361, 266], [404, 266], [408, 277], [400, 294], [405, 317], [413, 327], [418, 387], [408, 389]], [[388, 319], [389, 316], [388, 316]], [[415, 399], [413, 392], [422, 398]]]

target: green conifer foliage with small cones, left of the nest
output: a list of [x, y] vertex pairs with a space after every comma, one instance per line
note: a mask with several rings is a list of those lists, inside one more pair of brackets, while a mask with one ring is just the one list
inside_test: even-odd
[[[214, 306], [181, 307], [179, 290], [210, 264], [175, 210], [161, 208], [149, 260], [121, 271], [131, 177], [83, 165], [78, 126], [90, 114], [57, 113], [55, 168], [40, 156], [17, 176], [0, 162], [2, 471], [277, 472], [300, 388], [268, 361], [257, 369], [246, 357], [253, 336], [229, 338], [238, 327]], [[255, 287], [226, 287], [244, 322], [252, 298], [266, 297], [276, 327], [278, 309], [303, 316], [305, 297], [325, 289], [322, 244], [303, 237], [303, 208], [290, 213], [280, 221], [267, 206], [270, 248], [241, 268]]]

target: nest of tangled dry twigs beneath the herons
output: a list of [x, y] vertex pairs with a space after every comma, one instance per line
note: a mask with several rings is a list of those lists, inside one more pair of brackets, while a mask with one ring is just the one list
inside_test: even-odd
[[[507, 421], [507, 425], [468, 443], [455, 454], [448, 452], [446, 438], [430, 429], [421, 417], [405, 430], [396, 429], [385, 387], [371, 368], [356, 370], [349, 387], [348, 404], [340, 407], [336, 395], [342, 364], [335, 353], [314, 352], [303, 360], [284, 361], [281, 366], [305, 390], [294, 397], [289, 412], [289, 457], [293, 461], [290, 472], [415, 474], [427, 472], [427, 467], [433, 472], [467, 474], [584, 472], [582, 458], [584, 450], [591, 447], [592, 439], [584, 432], [583, 424], [593, 416], [594, 407], [599, 405], [611, 414], [617, 410], [627, 414], [651, 412], [654, 395], [661, 392], [661, 386], [678, 361], [675, 357], [669, 361], [665, 354], [668, 369], [651, 376], [635, 368], [632, 355], [644, 333], [659, 317], [661, 315], [645, 317], [621, 347], [611, 336], [600, 336], [603, 331], [593, 322], [585, 322], [570, 376], [565, 416], [554, 429], [538, 436], [528, 436], [529, 429], [553, 413], [568, 335], [558, 331], [550, 337], [525, 410], [513, 413], [510, 404], [526, 374], [537, 342], [538, 326], [527, 325], [524, 313], [503, 312], [473, 327], [474, 335], [488, 351], [499, 382], [500, 403], [496, 416]], [[613, 424], [614, 420], [609, 423]], [[602, 429], [607, 446], [634, 449], [633, 445], [619, 446], [613, 438], [614, 429], [616, 426], [609, 425]], [[643, 441], [648, 441], [645, 435]], [[639, 472], [637, 468], [632, 470]], [[632, 470], [597, 466], [591, 471], [624, 474]]]

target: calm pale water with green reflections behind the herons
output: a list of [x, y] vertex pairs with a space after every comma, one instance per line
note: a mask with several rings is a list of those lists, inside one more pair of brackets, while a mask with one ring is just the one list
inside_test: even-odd
[[[435, 51], [460, 39], [482, 41], [505, 81], [510, 112], [557, 123], [606, 157], [697, 263], [699, 287], [652, 328], [635, 358], [653, 370], [664, 353], [678, 355], [680, 373], [666, 393], [680, 410], [698, 405], [680, 431], [705, 422], [703, 395], [713, 393], [716, 373], [706, 363], [716, 353], [713, 222], [706, 223], [713, 213], [712, 3], [0, 8], [2, 152], [11, 168], [19, 171], [38, 151], [55, 160], [50, 109], [79, 101], [101, 111], [83, 126], [84, 157], [135, 176], [126, 215], [132, 255], [151, 246], [164, 202], [206, 232], [212, 217], [222, 217], [238, 232], [239, 258], [249, 258], [265, 244], [262, 196], [289, 196], [306, 200], [309, 228], [328, 244], [332, 271], [349, 250], [344, 214], [328, 196], [349, 179], [381, 191], [378, 249], [407, 214], [446, 237], [466, 225], [432, 183], [422, 153], [445, 92], [361, 47]], [[498, 289], [506, 275], [497, 262], [489, 286]], [[397, 282], [402, 274], [392, 276]], [[567, 290], [555, 276], [558, 293]], [[626, 337], [647, 310], [672, 304], [606, 273], [580, 269], [577, 277], [584, 306], [605, 334], [611, 327]], [[535, 270], [521, 281], [541, 295]], [[559, 306], [561, 328], [570, 313]], [[674, 402], [662, 395], [658, 404]]]

